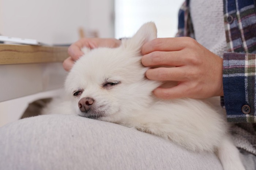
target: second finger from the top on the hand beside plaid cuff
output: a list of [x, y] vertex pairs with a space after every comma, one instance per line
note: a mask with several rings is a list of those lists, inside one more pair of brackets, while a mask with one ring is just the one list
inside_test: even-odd
[[142, 64], [149, 66], [182, 66], [185, 64], [182, 51], [153, 51], [142, 56]]

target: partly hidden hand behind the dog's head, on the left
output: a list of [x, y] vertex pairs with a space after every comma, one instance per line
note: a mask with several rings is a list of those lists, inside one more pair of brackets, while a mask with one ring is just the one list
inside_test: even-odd
[[121, 40], [117, 40], [114, 38], [82, 38], [71, 44], [71, 46], [68, 48], [68, 54], [70, 57], [64, 60], [63, 68], [66, 71], [71, 70], [75, 61], [83, 55], [83, 52], [81, 51], [83, 47], [87, 47], [90, 49], [98, 47], [116, 48], [120, 45], [120, 43]]

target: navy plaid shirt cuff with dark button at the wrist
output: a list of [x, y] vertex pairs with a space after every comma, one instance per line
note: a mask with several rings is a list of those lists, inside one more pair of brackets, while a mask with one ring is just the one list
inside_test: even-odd
[[256, 122], [256, 54], [225, 53], [223, 91], [228, 122]]

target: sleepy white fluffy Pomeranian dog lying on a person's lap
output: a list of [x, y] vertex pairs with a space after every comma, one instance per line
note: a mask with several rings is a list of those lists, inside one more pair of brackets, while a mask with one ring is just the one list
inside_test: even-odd
[[155, 38], [155, 24], [146, 23], [118, 48], [83, 49], [65, 81], [70, 99], [63, 112], [134, 127], [192, 151], [215, 152], [224, 170], [244, 170], [223, 115], [202, 100], [154, 97], [163, 82], [145, 78], [141, 48]]

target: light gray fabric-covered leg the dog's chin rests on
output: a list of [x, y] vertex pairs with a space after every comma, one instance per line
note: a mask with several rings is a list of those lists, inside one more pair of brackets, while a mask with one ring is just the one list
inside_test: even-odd
[[212, 153], [118, 124], [75, 115], [43, 115], [0, 128], [3, 170], [222, 170]]

